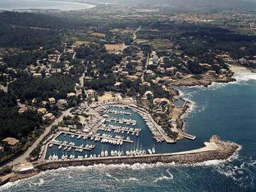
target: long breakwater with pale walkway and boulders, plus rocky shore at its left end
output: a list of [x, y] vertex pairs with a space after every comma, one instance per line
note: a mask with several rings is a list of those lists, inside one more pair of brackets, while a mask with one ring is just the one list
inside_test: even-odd
[[[236, 143], [230, 141], [221, 141], [220, 137], [212, 136], [209, 143], [205, 142], [205, 147], [186, 152], [176, 152], [172, 154], [154, 154], [147, 156], [133, 156], [133, 157], [103, 157], [86, 160], [69, 160], [69, 161], [51, 161], [42, 164], [34, 165], [35, 171], [27, 174], [15, 174], [6, 182], [15, 182], [21, 179], [28, 179], [38, 175], [40, 172], [47, 170], [58, 170], [59, 168], [67, 168], [70, 166], [93, 166], [97, 164], [113, 165], [113, 164], [157, 164], [157, 163], [174, 163], [175, 165], [193, 165], [204, 163], [211, 160], [227, 160], [234, 156], [240, 149]], [[1, 183], [0, 185], [5, 184]]]

